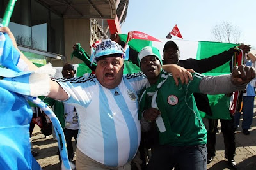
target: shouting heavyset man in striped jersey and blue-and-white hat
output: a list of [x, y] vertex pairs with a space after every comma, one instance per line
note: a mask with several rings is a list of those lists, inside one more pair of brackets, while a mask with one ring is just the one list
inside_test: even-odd
[[[8, 28], [2, 27], [0, 31], [6, 32], [16, 45]], [[137, 94], [147, 79], [142, 73], [124, 76], [123, 56], [120, 45], [106, 39], [94, 53], [93, 59], [97, 62], [95, 74], [68, 80], [45, 80], [49, 81], [47, 97], [76, 107], [80, 124], [77, 169], [131, 169], [127, 163], [136, 155], [140, 144]], [[31, 71], [38, 69], [22, 53], [18, 64], [20, 60]], [[179, 73], [177, 76], [182, 82], [191, 78], [186, 69], [170, 67], [170, 71], [173, 70]], [[179, 83], [177, 78], [176, 82]]]

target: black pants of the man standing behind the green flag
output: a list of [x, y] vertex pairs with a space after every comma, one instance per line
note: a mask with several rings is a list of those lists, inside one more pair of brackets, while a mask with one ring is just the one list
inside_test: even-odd
[[[236, 127], [234, 125], [234, 116], [231, 116], [231, 120], [220, 120], [221, 123], [221, 132], [224, 137], [225, 144], [225, 157], [227, 159], [234, 159], [236, 152], [236, 141], [235, 141], [235, 130]], [[207, 157], [215, 156], [215, 144], [216, 144], [216, 132], [218, 126], [217, 119], [209, 119], [209, 130], [207, 134]]]

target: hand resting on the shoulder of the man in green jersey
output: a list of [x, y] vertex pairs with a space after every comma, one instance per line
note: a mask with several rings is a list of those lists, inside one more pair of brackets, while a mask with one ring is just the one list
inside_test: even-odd
[[188, 84], [189, 80], [193, 80], [191, 74], [195, 72], [193, 69], [184, 69], [183, 67], [180, 67], [176, 64], [166, 64], [163, 65], [162, 68], [168, 73], [172, 73], [176, 85], [179, 85], [178, 78], [180, 78], [182, 84]]

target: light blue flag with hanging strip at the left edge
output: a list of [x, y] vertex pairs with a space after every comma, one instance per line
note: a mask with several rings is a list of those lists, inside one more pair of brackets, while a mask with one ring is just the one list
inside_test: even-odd
[[[51, 118], [58, 139], [58, 146], [65, 145], [65, 137], [55, 114], [38, 98], [32, 98], [29, 78], [31, 72], [20, 72], [17, 63], [20, 53], [13, 47], [12, 41], [0, 32], [0, 169], [41, 169], [30, 152], [29, 123], [32, 111], [26, 99], [38, 104]], [[22, 95], [26, 95], [26, 99]], [[19, 134], [19, 138], [17, 138]], [[60, 145], [61, 143], [61, 145]], [[61, 158], [66, 169], [71, 169], [66, 147], [60, 148]], [[8, 153], [8, 154], [6, 154]]]

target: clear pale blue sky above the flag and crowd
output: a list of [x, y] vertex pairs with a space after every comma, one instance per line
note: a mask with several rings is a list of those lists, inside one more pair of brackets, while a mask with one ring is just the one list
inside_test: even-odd
[[166, 38], [177, 24], [184, 40], [214, 41], [212, 28], [223, 22], [241, 30], [239, 42], [256, 49], [255, 0], [129, 0], [121, 28], [123, 34], [141, 31], [155, 38]]

